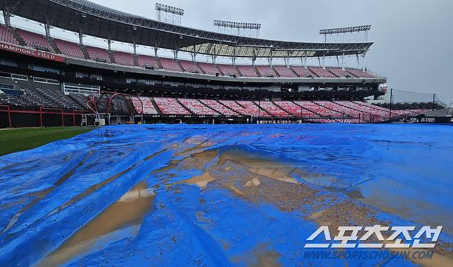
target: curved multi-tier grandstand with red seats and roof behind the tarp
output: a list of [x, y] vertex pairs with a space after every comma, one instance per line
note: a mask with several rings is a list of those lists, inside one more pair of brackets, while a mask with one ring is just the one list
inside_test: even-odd
[[[367, 103], [386, 78], [363, 61], [372, 42], [259, 39], [156, 21], [85, 0], [5, 0], [0, 25], [0, 127], [134, 122], [383, 122], [425, 109]], [[17, 16], [45, 34], [14, 27]], [[52, 35], [59, 28], [78, 42]], [[84, 43], [105, 39], [106, 47]], [[129, 43], [134, 52], [112, 49]], [[154, 54], [140, 54], [145, 46]], [[159, 54], [171, 51], [173, 57]], [[190, 54], [192, 60], [180, 58]], [[198, 61], [196, 56], [212, 58]], [[220, 61], [229, 58], [231, 63]], [[236, 64], [248, 58], [251, 63]], [[307, 65], [317, 58], [319, 65]], [[337, 58], [337, 66], [325, 65]], [[267, 65], [257, 60], [267, 60]], [[290, 64], [299, 61], [300, 64]], [[284, 61], [284, 64], [273, 64]], [[112, 119], [114, 118], [114, 119]]]

